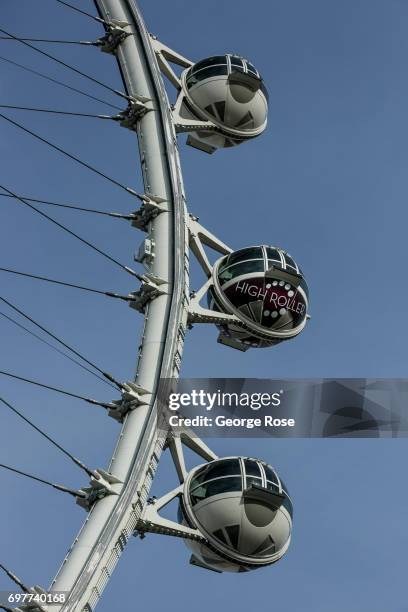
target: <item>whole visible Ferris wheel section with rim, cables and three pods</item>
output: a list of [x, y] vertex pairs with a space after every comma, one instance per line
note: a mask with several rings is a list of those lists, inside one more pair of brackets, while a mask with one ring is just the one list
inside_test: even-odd
[[[144, 317], [135, 377], [122, 381], [72, 347], [62, 334], [51, 332], [25, 309], [0, 298], [14, 314], [45, 333], [57, 350], [120, 394], [117, 400], [98, 402], [21, 377], [24, 382], [42, 384], [100, 405], [121, 424], [106, 469], [89, 468], [43, 427], [28, 419], [24, 411], [0, 398], [4, 406], [46, 437], [90, 478], [89, 486], [72, 490], [2, 465], [65, 491], [87, 512], [48, 589], [27, 587], [8, 567], [2, 566], [27, 595], [34, 597], [32, 601], [16, 601], [16, 605], [9, 603], [8, 607], [3, 606], [5, 609], [47, 610], [51, 601], [47, 597], [65, 593], [63, 601], [54, 599], [51, 603], [53, 610], [67, 612], [95, 609], [132, 535], [144, 537], [152, 532], [179, 537], [190, 548], [193, 565], [216, 572], [248, 572], [271, 565], [285, 554], [291, 539], [293, 508], [288, 489], [276, 470], [259, 458], [219, 458], [190, 430], [176, 432], [159, 426], [158, 389], [161, 379], [179, 377], [183, 346], [192, 325], [215, 325], [218, 341], [231, 350], [268, 348], [303, 331], [309, 319], [309, 290], [298, 262], [281, 246], [242, 245], [234, 251], [228, 246], [228, 236], [217, 237], [187, 207], [177, 138], [186, 134], [188, 145], [203, 154], [217, 155], [219, 149], [245, 146], [246, 141], [261, 135], [267, 125], [268, 92], [257, 68], [247, 58], [228, 52], [191, 61], [148, 32], [133, 0], [95, 0], [97, 15], [70, 2], [56, 2], [100, 24], [103, 32], [96, 41], [80, 43], [93, 45], [116, 58], [123, 91], [45, 52], [35, 39], [0, 31], [117, 96], [115, 114], [98, 118], [112, 120], [136, 133], [144, 185], [140, 190], [128, 187], [48, 137], [0, 113], [16, 129], [85, 166], [138, 202], [137, 210], [130, 214], [84, 207], [82, 211], [122, 218], [143, 233], [135, 256], [143, 266], [140, 273], [44, 212], [39, 205], [75, 206], [36, 200], [21, 195], [17, 189], [1, 186], [3, 197], [57, 225], [139, 283], [136, 291], [123, 295], [3, 269], [10, 274], [104, 293], [127, 302]], [[172, 100], [163, 77], [173, 86]], [[215, 263], [210, 260], [209, 249], [215, 254]], [[191, 291], [189, 286], [190, 253], [204, 273], [203, 284], [197, 291]], [[190, 471], [186, 468], [185, 448], [193, 451], [199, 462]], [[179, 482], [159, 499], [151, 498], [149, 491], [165, 450], [171, 454]], [[177, 521], [160, 513], [173, 500], [179, 503]]]

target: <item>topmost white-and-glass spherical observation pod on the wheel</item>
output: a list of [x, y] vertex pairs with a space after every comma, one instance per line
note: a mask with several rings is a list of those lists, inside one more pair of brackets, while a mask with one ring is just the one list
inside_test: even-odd
[[256, 68], [238, 55], [217, 55], [194, 64], [181, 77], [180, 114], [210, 121], [187, 143], [207, 153], [259, 136], [268, 114], [268, 93]]

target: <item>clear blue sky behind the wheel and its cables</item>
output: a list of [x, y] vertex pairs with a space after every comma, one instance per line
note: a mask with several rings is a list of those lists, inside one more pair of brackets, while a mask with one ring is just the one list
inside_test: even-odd
[[[74, 2], [75, 0], [72, 0]], [[88, 0], [77, 6], [94, 11]], [[289, 251], [311, 291], [312, 320], [292, 342], [243, 354], [196, 326], [184, 376], [406, 377], [408, 4], [403, 0], [141, 0], [149, 29], [193, 60], [248, 57], [270, 92], [267, 132], [206, 156], [181, 145], [190, 210], [233, 248]], [[53, 0], [2, 2], [0, 27], [21, 36], [93, 40], [98, 24]], [[39, 45], [41, 46], [41, 45]], [[94, 48], [42, 45], [122, 88]], [[23, 45], [0, 55], [122, 106], [120, 98]], [[0, 103], [115, 112], [0, 59]], [[113, 122], [3, 114], [141, 189], [135, 136]], [[185, 138], [181, 137], [181, 143]], [[137, 201], [0, 117], [1, 179], [20, 195], [129, 212]], [[4, 200], [4, 201], [3, 201]], [[125, 221], [45, 209], [127, 265], [143, 235]], [[0, 265], [104, 290], [136, 287], [126, 273], [23, 205], [0, 202]], [[136, 265], [136, 264], [135, 264]], [[141, 317], [108, 298], [0, 273], [1, 295], [121, 380], [133, 376]], [[195, 283], [199, 286], [200, 279]], [[195, 284], [193, 282], [193, 286]], [[0, 311], [12, 312], [0, 305]], [[14, 316], [14, 315], [12, 315]], [[0, 316], [0, 369], [109, 401], [111, 390]], [[91, 467], [106, 467], [116, 422], [102, 409], [0, 378], [0, 394]], [[67, 486], [86, 476], [0, 407], [0, 463]], [[281, 612], [407, 612], [406, 440], [214, 440], [220, 455], [276, 466], [295, 507], [293, 543], [273, 567], [218, 575], [188, 565], [172, 538], [130, 543], [99, 604], [108, 610], [193, 608]], [[154, 486], [175, 483], [163, 462]], [[46, 587], [84, 519], [71, 498], [0, 473], [0, 562]], [[0, 589], [11, 583], [0, 577]]]

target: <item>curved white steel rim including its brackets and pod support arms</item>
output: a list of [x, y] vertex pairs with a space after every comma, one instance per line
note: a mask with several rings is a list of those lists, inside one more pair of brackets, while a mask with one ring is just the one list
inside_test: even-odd
[[[150, 529], [178, 535], [203, 542], [213, 549], [218, 547], [221, 556], [231, 558], [228, 551], [223, 551], [222, 547], [220, 550], [218, 542], [212, 543], [211, 538], [207, 539], [196, 529], [159, 519], [157, 510], [147, 504], [165, 445], [170, 449], [180, 483], [184, 485], [166, 494], [157, 509], [188, 489], [192, 475], [186, 472], [182, 442], [207, 461], [217, 459], [188, 431], [176, 436], [166, 426], [158, 427], [158, 387], [160, 379], [178, 377], [185, 332], [192, 321], [236, 321], [233, 315], [210, 313], [209, 316], [208, 311], [200, 310], [198, 295], [197, 303], [194, 298], [190, 300], [189, 248], [208, 278], [200, 293], [213, 282], [217, 270], [217, 266], [212, 269], [203, 245], [223, 255], [231, 249], [187, 213], [176, 137], [180, 131], [221, 130], [211, 121], [187, 119], [180, 123], [178, 106], [187, 71], [180, 82], [168, 61], [175, 61], [187, 69], [191, 62], [148, 33], [134, 0], [94, 2], [108, 31], [104, 37], [108, 39], [108, 46], [102, 50], [116, 55], [129, 100], [129, 108], [122, 113], [122, 125], [137, 132], [139, 143], [145, 196], [134, 226], [148, 233], [139, 259], [146, 265], [147, 274], [142, 277], [142, 287], [135, 293], [137, 305], [134, 307], [145, 314], [145, 320], [134, 382], [125, 385], [122, 404], [118, 402], [118, 410], [110, 412], [123, 422], [123, 426], [108, 472], [99, 470], [109, 487], [105, 487], [106, 494], [92, 505], [50, 586], [51, 592], [68, 593], [65, 603], [54, 606], [56, 612], [94, 610], [130, 536], [138, 532]], [[112, 32], [118, 34], [117, 39], [109, 38]], [[161, 71], [180, 93], [173, 110]], [[263, 129], [264, 126], [250, 137]], [[234, 133], [233, 130], [226, 132]], [[273, 560], [280, 558], [287, 546]], [[266, 563], [265, 560], [263, 563], [246, 561], [253, 567], [273, 562], [272, 557]]]

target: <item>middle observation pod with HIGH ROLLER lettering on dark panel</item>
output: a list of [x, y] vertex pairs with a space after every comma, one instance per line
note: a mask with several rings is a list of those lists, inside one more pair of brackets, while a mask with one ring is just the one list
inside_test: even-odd
[[209, 307], [235, 315], [219, 325], [219, 341], [234, 348], [267, 347], [297, 336], [308, 318], [309, 291], [285, 251], [255, 246], [220, 259], [213, 270]]

